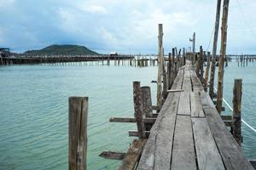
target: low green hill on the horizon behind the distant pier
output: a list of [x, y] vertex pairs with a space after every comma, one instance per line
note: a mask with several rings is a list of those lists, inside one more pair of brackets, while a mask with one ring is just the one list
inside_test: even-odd
[[29, 50], [24, 54], [50, 55], [50, 54], [97, 54], [95, 51], [79, 45], [50, 45], [43, 49]]

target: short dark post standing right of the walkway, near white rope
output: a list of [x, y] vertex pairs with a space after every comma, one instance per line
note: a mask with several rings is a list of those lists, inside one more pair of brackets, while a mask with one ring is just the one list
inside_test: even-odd
[[236, 79], [233, 89], [232, 131], [236, 142], [241, 145], [241, 79]]

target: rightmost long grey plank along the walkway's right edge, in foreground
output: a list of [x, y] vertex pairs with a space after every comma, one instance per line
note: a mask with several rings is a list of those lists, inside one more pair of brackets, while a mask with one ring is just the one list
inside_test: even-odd
[[[210, 98], [207, 94], [201, 93], [201, 101], [207, 101]], [[211, 105], [211, 104], [209, 104]], [[241, 151], [241, 147], [237, 144], [232, 134], [225, 127], [224, 122], [215, 108], [205, 104], [205, 111], [208, 125], [211, 129], [212, 136], [217, 144], [220, 155], [226, 169], [251, 169], [252, 165], [247, 161], [246, 156]]]

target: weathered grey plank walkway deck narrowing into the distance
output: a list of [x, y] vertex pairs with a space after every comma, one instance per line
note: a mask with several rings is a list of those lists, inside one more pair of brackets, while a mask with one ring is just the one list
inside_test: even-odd
[[252, 169], [190, 63], [181, 67], [137, 169]]

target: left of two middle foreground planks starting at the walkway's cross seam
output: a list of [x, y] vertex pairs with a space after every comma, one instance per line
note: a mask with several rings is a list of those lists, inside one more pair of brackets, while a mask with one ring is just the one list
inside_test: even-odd
[[195, 149], [190, 116], [177, 115], [171, 169], [196, 169]]

